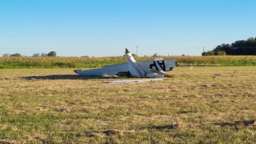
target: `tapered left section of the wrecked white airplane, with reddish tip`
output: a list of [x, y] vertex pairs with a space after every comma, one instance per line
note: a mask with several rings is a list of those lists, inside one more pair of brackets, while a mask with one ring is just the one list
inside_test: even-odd
[[104, 66], [100, 69], [89, 69], [82, 70], [77, 69], [74, 70], [75, 73], [79, 75], [98, 75], [98, 76], [107, 76], [107, 75], [116, 75], [116, 72], [127, 72], [128, 64], [114, 64], [109, 66]]

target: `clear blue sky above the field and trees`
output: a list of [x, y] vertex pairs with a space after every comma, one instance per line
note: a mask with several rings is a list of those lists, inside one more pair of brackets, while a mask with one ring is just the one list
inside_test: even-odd
[[256, 37], [255, 0], [1, 0], [0, 56], [200, 56]]

